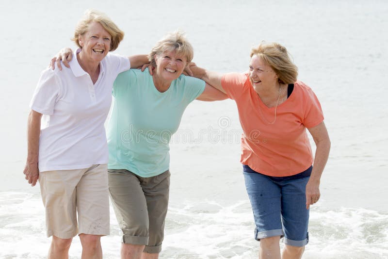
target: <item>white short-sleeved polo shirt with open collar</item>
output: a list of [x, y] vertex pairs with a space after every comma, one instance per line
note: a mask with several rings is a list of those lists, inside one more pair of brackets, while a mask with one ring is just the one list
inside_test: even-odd
[[45, 114], [39, 138], [39, 171], [88, 168], [108, 162], [104, 122], [117, 75], [129, 59], [112, 53], [100, 62], [96, 84], [73, 53], [70, 68], [42, 72], [30, 107]]

